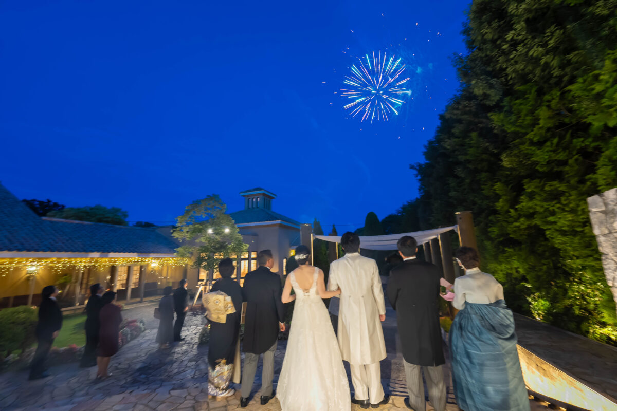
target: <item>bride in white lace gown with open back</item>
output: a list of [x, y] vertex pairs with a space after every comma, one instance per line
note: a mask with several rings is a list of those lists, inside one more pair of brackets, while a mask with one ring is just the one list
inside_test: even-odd
[[[300, 264], [283, 288], [283, 303], [296, 299], [294, 316], [276, 397], [283, 411], [341, 411], [351, 409], [349, 382], [339, 344], [322, 298], [341, 290], [326, 291], [323, 271], [309, 265], [309, 248], [296, 248]], [[291, 290], [296, 295], [290, 295]]]

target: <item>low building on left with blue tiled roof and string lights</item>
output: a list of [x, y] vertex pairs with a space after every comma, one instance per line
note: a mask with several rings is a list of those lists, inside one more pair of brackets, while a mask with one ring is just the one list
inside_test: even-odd
[[0, 184], [0, 307], [36, 303], [67, 274], [73, 304], [96, 282], [119, 298], [143, 298], [186, 276], [177, 247], [154, 228], [41, 218]]

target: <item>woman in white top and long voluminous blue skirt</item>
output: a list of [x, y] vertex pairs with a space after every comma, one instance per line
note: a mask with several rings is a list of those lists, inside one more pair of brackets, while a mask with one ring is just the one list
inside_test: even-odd
[[460, 310], [450, 327], [452, 381], [465, 411], [529, 411], [516, 351], [514, 317], [503, 287], [479, 269], [478, 252], [456, 251], [465, 275], [454, 280], [452, 305]]

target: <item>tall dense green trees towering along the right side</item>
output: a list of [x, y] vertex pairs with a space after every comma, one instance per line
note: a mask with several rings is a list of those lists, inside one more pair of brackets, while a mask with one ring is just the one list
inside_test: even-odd
[[617, 187], [617, 0], [474, 0], [463, 34], [460, 90], [413, 166], [420, 198], [386, 232], [473, 210], [509, 306], [615, 344], [586, 198]]

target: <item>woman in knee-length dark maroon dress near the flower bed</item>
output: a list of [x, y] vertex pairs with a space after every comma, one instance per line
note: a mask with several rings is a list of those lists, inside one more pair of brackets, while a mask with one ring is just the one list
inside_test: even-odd
[[122, 323], [122, 314], [120, 307], [114, 304], [116, 293], [107, 291], [102, 297], [103, 304], [101, 313], [99, 314], [99, 352], [96, 357], [96, 364], [99, 370], [96, 373], [96, 378], [106, 378], [111, 374], [107, 373], [109, 360], [118, 352], [118, 338], [120, 335], [120, 323]]

